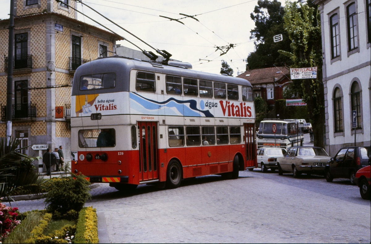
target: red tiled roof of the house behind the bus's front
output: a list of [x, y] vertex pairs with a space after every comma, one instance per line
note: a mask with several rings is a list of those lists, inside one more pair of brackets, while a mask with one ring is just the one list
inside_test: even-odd
[[250, 81], [251, 84], [261, 83], [272, 83], [273, 78], [276, 81], [285, 78], [285, 75], [289, 77], [289, 68], [283, 67], [272, 67], [272, 68], [257, 68], [255, 70], [246, 70], [242, 74], [238, 75], [238, 78], [243, 78]]

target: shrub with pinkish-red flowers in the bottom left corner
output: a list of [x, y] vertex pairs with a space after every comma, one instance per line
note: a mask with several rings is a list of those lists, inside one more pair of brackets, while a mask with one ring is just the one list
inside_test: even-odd
[[18, 208], [6, 207], [0, 203], [0, 233], [1, 243], [12, 231], [20, 224], [20, 220], [16, 220], [18, 216]]

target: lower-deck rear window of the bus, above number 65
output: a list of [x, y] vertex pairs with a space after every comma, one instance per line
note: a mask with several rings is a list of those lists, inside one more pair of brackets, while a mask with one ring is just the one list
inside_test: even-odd
[[115, 129], [79, 130], [79, 147], [114, 147]]

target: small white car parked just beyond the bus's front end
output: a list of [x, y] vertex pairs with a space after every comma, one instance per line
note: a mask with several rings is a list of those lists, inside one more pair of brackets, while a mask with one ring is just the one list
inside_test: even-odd
[[277, 158], [285, 155], [286, 149], [279, 147], [261, 147], [257, 149], [257, 167], [262, 169], [262, 172], [267, 172], [270, 168], [271, 171], [277, 169]]

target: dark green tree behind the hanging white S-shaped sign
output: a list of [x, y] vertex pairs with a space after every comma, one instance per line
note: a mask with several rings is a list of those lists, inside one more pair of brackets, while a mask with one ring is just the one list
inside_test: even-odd
[[[259, 0], [257, 4], [250, 14], [255, 22], [255, 28], [250, 31], [250, 39], [256, 38], [255, 51], [246, 59], [246, 70], [290, 63], [288, 57], [278, 53], [278, 50], [290, 51], [290, 40], [283, 29], [284, 8], [277, 0]], [[275, 43], [273, 36], [277, 34], [282, 34], [283, 40]]]

